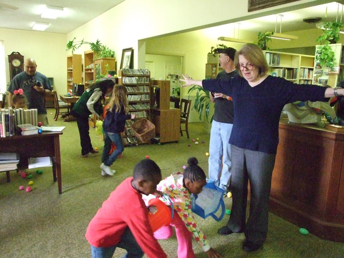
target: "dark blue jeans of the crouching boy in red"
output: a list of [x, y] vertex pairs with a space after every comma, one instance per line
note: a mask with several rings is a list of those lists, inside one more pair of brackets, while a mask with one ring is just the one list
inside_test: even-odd
[[111, 247], [94, 247], [91, 245], [92, 258], [111, 258], [116, 247], [127, 250], [127, 253], [122, 258], [141, 258], [144, 254], [129, 227], [127, 227], [118, 244]]

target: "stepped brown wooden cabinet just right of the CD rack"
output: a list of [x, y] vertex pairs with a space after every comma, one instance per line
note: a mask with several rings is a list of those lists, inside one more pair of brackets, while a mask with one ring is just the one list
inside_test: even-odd
[[155, 88], [160, 89], [159, 108], [151, 101], [152, 122], [155, 133], [159, 135], [160, 142], [179, 141], [180, 138], [180, 109], [170, 108], [170, 81], [151, 80], [150, 96], [155, 99]]

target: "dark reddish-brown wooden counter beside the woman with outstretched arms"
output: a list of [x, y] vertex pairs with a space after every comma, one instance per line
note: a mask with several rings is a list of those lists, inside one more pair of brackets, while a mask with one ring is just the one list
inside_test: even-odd
[[270, 211], [322, 239], [344, 242], [344, 133], [279, 123]]

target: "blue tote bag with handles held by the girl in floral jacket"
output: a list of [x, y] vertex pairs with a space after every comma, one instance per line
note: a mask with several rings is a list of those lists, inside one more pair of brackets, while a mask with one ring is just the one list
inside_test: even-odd
[[[208, 181], [203, 187], [203, 191], [192, 197], [191, 210], [202, 218], [212, 216], [216, 221], [221, 221], [225, 215], [225, 203], [222, 196], [224, 191], [217, 187], [213, 181]], [[215, 213], [221, 206], [221, 215], [217, 217]]]

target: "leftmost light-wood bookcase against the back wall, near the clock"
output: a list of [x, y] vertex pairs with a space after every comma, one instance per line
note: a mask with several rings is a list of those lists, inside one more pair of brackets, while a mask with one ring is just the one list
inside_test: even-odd
[[72, 54], [67, 56], [67, 92], [73, 89], [73, 83], [82, 84], [82, 56]]

